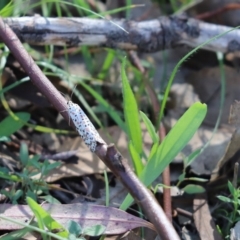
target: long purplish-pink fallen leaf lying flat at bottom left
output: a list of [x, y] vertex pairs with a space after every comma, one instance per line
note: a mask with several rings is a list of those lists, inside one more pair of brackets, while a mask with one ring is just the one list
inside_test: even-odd
[[[67, 226], [69, 220], [79, 223], [82, 228], [101, 224], [106, 227], [104, 234], [121, 234], [137, 227], [147, 227], [154, 230], [154, 226], [138, 217], [130, 215], [113, 207], [91, 204], [44, 204], [42, 207], [60, 224]], [[27, 223], [33, 213], [27, 205], [1, 204], [0, 213], [4, 217]], [[22, 226], [1, 219], [0, 230], [20, 229]]]

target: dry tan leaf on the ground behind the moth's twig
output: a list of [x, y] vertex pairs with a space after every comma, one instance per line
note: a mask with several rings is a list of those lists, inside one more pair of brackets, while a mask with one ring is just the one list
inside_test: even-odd
[[[144, 150], [146, 154], [149, 154], [149, 149], [152, 145], [151, 138], [146, 130], [144, 124], [141, 124]], [[100, 130], [99, 134], [107, 143], [115, 143], [117, 149], [123, 155], [124, 158], [128, 159], [131, 163], [131, 159], [128, 153], [128, 140], [126, 134], [117, 126]], [[80, 137], [66, 138], [66, 144], [62, 150], [73, 150], [78, 149], [79, 152], [76, 154], [78, 157], [77, 163], [65, 163], [59, 168], [53, 169], [46, 177], [45, 180], [53, 182], [63, 177], [82, 176], [93, 173], [103, 173], [104, 170], [108, 170], [105, 164], [96, 156], [96, 154], [90, 152], [87, 146], [84, 144]], [[61, 148], [60, 148], [61, 149]]]

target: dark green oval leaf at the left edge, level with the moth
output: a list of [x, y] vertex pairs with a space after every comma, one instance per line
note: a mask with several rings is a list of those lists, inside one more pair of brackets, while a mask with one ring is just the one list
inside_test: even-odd
[[9, 137], [19, 129], [21, 129], [25, 122], [30, 119], [30, 114], [26, 112], [16, 113], [17, 118], [7, 116], [0, 122], [0, 137]]

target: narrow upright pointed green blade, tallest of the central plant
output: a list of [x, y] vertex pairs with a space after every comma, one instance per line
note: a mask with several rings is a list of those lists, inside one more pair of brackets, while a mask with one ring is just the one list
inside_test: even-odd
[[129, 138], [132, 141], [136, 151], [141, 154], [142, 134], [138, 106], [125, 73], [125, 64], [126, 60], [124, 59], [121, 67], [124, 117], [127, 124]]

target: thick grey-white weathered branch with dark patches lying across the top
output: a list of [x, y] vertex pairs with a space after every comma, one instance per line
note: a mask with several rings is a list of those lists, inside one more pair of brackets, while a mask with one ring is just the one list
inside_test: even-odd
[[[29, 44], [86, 45], [141, 52], [156, 52], [182, 44], [196, 47], [231, 29], [183, 16], [160, 17], [142, 22], [34, 16], [5, 18], [4, 22], [21, 41]], [[239, 39], [240, 30], [234, 30], [203, 48], [223, 53], [240, 51]]]

